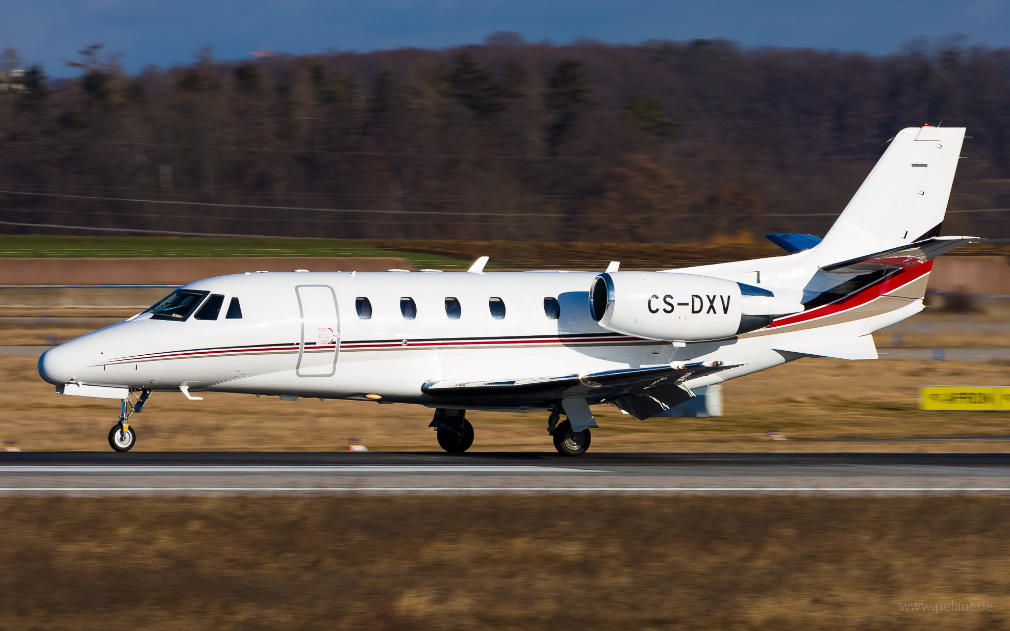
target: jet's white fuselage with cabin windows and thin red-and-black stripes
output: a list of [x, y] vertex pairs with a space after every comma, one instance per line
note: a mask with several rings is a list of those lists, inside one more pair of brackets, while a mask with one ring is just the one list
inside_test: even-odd
[[[528, 411], [547, 404], [436, 401], [422, 386], [698, 359], [745, 364], [685, 384], [695, 389], [802, 356], [773, 349], [771, 340], [813, 333], [674, 344], [612, 332], [590, 315], [588, 292], [595, 277], [588, 272], [270, 272], [204, 279], [181, 289], [223, 295], [225, 307], [237, 298], [241, 318], [225, 318], [224, 309], [215, 320], [169, 321], [143, 313], [50, 349], [39, 360], [39, 372], [54, 384], [156, 392], [185, 386], [192, 392], [319, 398], [373, 395], [382, 402]], [[360, 298], [371, 305], [368, 319], [359, 317]], [[408, 298], [415, 305], [413, 319], [401, 309], [401, 300]], [[446, 315], [449, 298], [459, 301], [458, 319]], [[491, 299], [504, 304], [504, 317], [493, 317]], [[544, 299], [558, 301], [558, 319], [547, 316]], [[857, 334], [919, 309], [920, 301], [908, 301], [879, 326], [862, 317]], [[852, 325], [851, 318], [843, 324]]]

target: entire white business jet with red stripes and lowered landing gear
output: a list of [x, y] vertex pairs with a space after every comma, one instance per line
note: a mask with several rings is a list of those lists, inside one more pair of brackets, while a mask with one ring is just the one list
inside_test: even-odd
[[[63, 395], [120, 400], [109, 444], [136, 442], [150, 395], [410, 403], [446, 451], [468, 410], [546, 413], [575, 456], [592, 406], [647, 419], [694, 391], [801, 357], [875, 359], [873, 333], [923, 308], [964, 128], [900, 131], [823, 238], [786, 254], [662, 272], [249, 272], [180, 287], [123, 322], [46, 350]], [[563, 419], [564, 417], [564, 419]]]

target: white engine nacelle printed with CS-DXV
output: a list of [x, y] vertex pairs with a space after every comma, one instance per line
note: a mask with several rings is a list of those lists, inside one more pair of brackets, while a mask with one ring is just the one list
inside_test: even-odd
[[751, 285], [693, 274], [601, 274], [589, 292], [593, 320], [605, 329], [651, 339], [723, 339], [767, 326], [803, 305]]

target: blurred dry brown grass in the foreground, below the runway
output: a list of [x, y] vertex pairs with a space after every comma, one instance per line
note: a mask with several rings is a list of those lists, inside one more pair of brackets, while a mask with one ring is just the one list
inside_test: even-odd
[[[1000, 629], [1002, 498], [18, 498], [4, 629]], [[988, 613], [902, 612], [983, 602]]]

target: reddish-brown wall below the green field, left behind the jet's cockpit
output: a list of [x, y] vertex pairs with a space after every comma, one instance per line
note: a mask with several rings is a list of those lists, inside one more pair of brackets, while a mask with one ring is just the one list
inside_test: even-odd
[[388, 257], [0, 258], [0, 285], [185, 285], [224, 274], [256, 272], [382, 272], [410, 270]]

